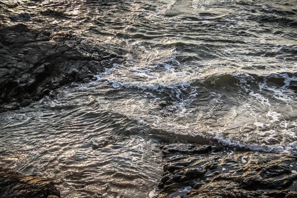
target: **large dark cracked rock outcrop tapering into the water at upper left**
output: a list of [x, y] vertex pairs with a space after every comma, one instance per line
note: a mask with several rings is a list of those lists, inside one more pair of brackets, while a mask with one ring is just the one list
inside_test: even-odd
[[50, 33], [18, 23], [0, 28], [0, 112], [124, 61], [125, 49], [96, 44], [73, 34]]

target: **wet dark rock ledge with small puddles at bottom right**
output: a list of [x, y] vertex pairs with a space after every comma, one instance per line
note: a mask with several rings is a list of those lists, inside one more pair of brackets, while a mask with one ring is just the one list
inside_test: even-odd
[[172, 144], [157, 198], [297, 198], [297, 154]]

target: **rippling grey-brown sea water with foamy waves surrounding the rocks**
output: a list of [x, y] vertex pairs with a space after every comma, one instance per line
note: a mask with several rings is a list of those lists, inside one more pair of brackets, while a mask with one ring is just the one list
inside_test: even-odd
[[297, 152], [296, 1], [21, 3], [7, 23], [116, 45], [127, 61], [1, 113], [1, 166], [50, 177], [63, 197], [143, 198], [162, 143]]

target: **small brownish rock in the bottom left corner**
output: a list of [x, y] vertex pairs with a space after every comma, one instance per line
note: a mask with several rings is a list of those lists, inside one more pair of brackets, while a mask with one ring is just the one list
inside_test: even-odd
[[0, 198], [60, 198], [60, 192], [46, 178], [0, 167]]

